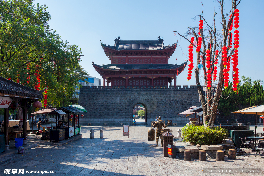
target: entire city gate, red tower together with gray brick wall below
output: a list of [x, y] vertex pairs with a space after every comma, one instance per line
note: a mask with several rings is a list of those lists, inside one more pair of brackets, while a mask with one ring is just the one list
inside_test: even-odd
[[111, 63], [92, 62], [103, 77], [103, 86], [80, 89], [79, 105], [87, 110], [80, 118], [82, 125], [132, 125], [136, 104], [145, 108], [148, 125], [156, 116], [178, 125], [189, 122], [177, 114], [200, 103], [196, 86], [176, 85], [177, 75], [187, 65], [187, 61], [168, 64], [177, 43], [165, 46], [161, 37], [144, 41], [124, 41], [118, 37], [114, 46], [101, 46]]

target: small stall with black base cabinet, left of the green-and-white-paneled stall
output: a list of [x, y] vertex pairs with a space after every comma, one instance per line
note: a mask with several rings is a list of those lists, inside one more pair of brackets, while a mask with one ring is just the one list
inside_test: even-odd
[[[49, 131], [50, 142], [60, 141], [65, 139], [65, 129], [64, 129], [64, 116], [67, 115], [61, 110], [54, 110], [49, 113], [51, 115], [51, 129]], [[53, 117], [56, 116], [55, 126], [53, 125]]]

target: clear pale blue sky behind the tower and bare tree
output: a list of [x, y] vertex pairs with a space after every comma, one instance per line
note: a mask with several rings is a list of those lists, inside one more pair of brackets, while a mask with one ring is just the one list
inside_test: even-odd
[[[196, 15], [201, 14], [201, 1], [54, 1], [36, 0], [46, 4], [51, 14], [50, 27], [69, 44], [77, 44], [82, 49], [81, 65], [90, 76], [101, 78], [92, 66], [91, 60], [98, 65], [110, 64], [100, 40], [114, 45], [116, 37], [121, 40], [157, 40], [163, 37], [164, 44], [173, 44], [178, 40], [175, 53], [169, 64], [185, 62], [188, 43], [173, 31], [185, 34], [189, 26], [198, 26]], [[202, 1], [204, 17], [213, 23], [216, 12], [216, 26], [221, 28], [221, 14], [218, 2]], [[231, 1], [225, 1], [224, 12], [230, 10]], [[239, 9], [239, 78], [246, 75], [254, 79], [263, 78], [263, 7], [264, 1], [241, 1]], [[198, 19], [198, 18], [197, 18]], [[227, 19], [228, 20], [228, 19]], [[234, 31], [234, 30], [233, 30]], [[190, 38], [191, 36], [189, 36]], [[195, 55], [195, 54], [194, 54]], [[195, 58], [195, 57], [194, 57]], [[194, 61], [196, 63], [196, 61]], [[196, 66], [196, 64], [195, 64]], [[177, 85], [196, 85], [195, 77], [187, 80], [187, 69], [178, 75]], [[101, 84], [103, 82], [101, 81]]]

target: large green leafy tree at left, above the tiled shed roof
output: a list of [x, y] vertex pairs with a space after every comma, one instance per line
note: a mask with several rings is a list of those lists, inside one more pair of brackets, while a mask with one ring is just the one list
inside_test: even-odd
[[0, 75], [31, 88], [40, 83], [48, 87], [48, 104], [67, 106], [87, 72], [79, 65], [81, 49], [50, 29], [46, 10], [33, 0], [1, 1]]

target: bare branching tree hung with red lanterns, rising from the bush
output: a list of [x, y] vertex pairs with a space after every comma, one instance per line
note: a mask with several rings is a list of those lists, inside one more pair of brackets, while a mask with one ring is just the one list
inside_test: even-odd
[[[237, 5], [240, 3], [240, 0], [232, 0], [232, 7], [230, 9], [230, 12], [227, 14], [224, 14], [224, 0], [216, 0], [219, 5], [220, 5], [220, 13], [221, 13], [221, 25], [222, 25], [222, 30], [217, 30], [216, 29], [216, 25], [215, 25], [215, 15], [216, 13], [214, 13], [213, 16], [213, 25], [210, 26], [206, 19], [203, 16], [203, 8], [202, 8], [202, 14], [199, 15], [200, 20], [203, 20], [204, 22], [204, 26], [202, 29], [199, 29], [198, 27], [189, 27], [189, 30], [187, 32], [187, 34], [185, 36], [179, 34], [181, 37], [185, 38], [186, 40], [188, 35], [192, 35], [194, 36], [194, 38], [196, 39], [196, 41], [198, 41], [199, 39], [199, 35], [198, 32], [200, 32], [200, 36], [201, 36], [201, 49], [197, 54], [197, 66], [194, 69], [195, 70], [195, 80], [196, 80], [196, 84], [197, 84], [197, 88], [198, 88], [198, 93], [199, 93], [199, 98], [201, 100], [201, 104], [202, 104], [202, 109], [204, 112], [204, 125], [205, 126], [209, 126], [209, 127], [213, 127], [214, 123], [215, 123], [215, 116], [216, 116], [216, 111], [217, 111], [217, 107], [218, 107], [218, 103], [221, 97], [221, 92], [223, 90], [223, 69], [226, 68], [226, 65], [223, 65], [223, 55], [222, 55], [222, 48], [223, 46], [227, 47], [227, 56], [228, 58], [230, 58], [230, 56], [233, 54], [234, 52], [234, 48], [230, 48], [229, 44], [230, 44], [230, 39], [231, 39], [231, 35], [229, 32], [230, 26], [232, 24], [233, 18], [234, 18], [234, 14], [235, 14], [235, 9], [237, 8]], [[229, 20], [226, 20], [229, 19]], [[195, 48], [197, 48], [197, 46], [195, 46], [190, 40], [188, 40]], [[195, 49], [194, 48], [194, 49]], [[216, 87], [209, 87], [208, 89], [206, 89], [206, 95], [204, 95], [202, 93], [202, 87], [201, 85], [206, 85], [207, 82], [207, 77], [208, 74], [206, 74], [206, 72], [208, 71], [206, 69], [206, 50], [210, 51], [210, 63], [211, 66], [209, 68], [210, 70], [210, 77], [212, 78], [213, 75], [213, 71], [214, 71], [214, 63], [215, 61], [217, 61], [216, 59], [219, 59], [219, 74], [218, 74], [218, 83], [216, 85]], [[219, 57], [215, 58], [215, 54], [217, 53], [216, 50], [219, 51]], [[198, 68], [198, 64], [202, 64], [202, 70], [200, 70]], [[230, 77], [232, 77], [230, 75]], [[211, 79], [212, 80], [212, 79]], [[213, 81], [213, 80], [212, 80]], [[217, 80], [216, 80], [217, 81]]]

